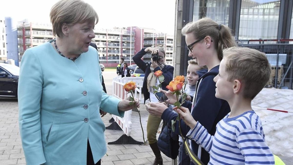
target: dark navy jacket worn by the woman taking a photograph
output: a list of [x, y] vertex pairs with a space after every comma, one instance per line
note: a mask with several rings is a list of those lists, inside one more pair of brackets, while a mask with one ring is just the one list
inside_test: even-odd
[[[142, 70], [144, 71], [144, 83], [142, 85], [142, 91], [144, 93], [144, 103], [146, 102], [147, 99], [149, 99], [149, 91], [147, 89], [147, 77], [151, 73], [151, 63], [145, 63], [141, 58], [147, 54], [147, 52], [144, 51], [144, 48], [140, 50], [136, 55], [133, 56], [133, 61], [134, 63]], [[154, 68], [154, 72], [157, 70], [161, 70], [161, 68], [158, 66]], [[162, 75], [164, 76], [164, 82], [162, 83], [162, 89], [163, 90], [168, 90], [166, 88], [167, 85], [173, 80], [173, 72], [174, 72], [174, 67], [171, 65], [165, 65], [165, 67], [162, 69]]]

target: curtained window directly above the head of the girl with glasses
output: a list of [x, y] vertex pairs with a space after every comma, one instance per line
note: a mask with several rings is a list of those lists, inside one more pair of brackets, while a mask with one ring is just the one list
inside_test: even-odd
[[210, 17], [217, 23], [228, 25], [230, 0], [193, 0], [193, 21]]

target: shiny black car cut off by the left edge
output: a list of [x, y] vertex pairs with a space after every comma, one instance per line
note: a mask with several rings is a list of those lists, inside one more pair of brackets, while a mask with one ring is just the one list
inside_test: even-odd
[[17, 97], [19, 67], [0, 63], [0, 97]]

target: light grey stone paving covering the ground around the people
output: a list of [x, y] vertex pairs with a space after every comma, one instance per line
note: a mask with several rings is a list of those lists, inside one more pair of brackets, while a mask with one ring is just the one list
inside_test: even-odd
[[[264, 88], [253, 100], [253, 106], [268, 107], [280, 110], [293, 111], [293, 90], [278, 90]], [[146, 125], [148, 112], [145, 106], [139, 108], [144, 126], [144, 137], [146, 138]], [[287, 165], [293, 165], [293, 113], [282, 113], [268, 110], [256, 110], [260, 116], [265, 139], [275, 155]], [[111, 115], [103, 117], [105, 126], [111, 123], [108, 120]], [[139, 124], [139, 115], [132, 112], [131, 137], [143, 142], [142, 130]], [[117, 140], [123, 134], [122, 131], [105, 130], [106, 142]], [[102, 158], [102, 165], [130, 165], [151, 164], [154, 154], [149, 146], [124, 144], [107, 144], [107, 154]], [[18, 105], [15, 99], [0, 99], [0, 165], [25, 164], [21, 139], [18, 126]], [[171, 159], [163, 155], [163, 164], [171, 164]]]

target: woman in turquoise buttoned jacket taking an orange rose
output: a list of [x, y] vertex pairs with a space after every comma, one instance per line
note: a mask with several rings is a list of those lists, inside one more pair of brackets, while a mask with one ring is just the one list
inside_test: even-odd
[[29, 48], [21, 60], [19, 127], [26, 163], [100, 164], [107, 148], [99, 109], [123, 117], [130, 101], [103, 92], [98, 52], [89, 47], [96, 11], [80, 0], [62, 0], [50, 18], [57, 39]]

